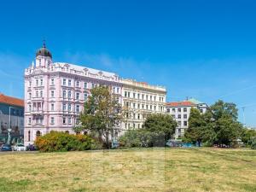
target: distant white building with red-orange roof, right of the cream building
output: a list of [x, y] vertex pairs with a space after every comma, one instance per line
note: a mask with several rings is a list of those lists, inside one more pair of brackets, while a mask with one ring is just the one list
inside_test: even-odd
[[191, 108], [197, 108], [201, 113], [206, 113], [207, 104], [199, 102], [195, 99], [190, 99], [183, 102], [167, 102], [166, 112], [172, 115], [172, 118], [177, 121], [177, 128], [174, 138], [183, 137], [185, 130], [189, 127], [189, 115]]

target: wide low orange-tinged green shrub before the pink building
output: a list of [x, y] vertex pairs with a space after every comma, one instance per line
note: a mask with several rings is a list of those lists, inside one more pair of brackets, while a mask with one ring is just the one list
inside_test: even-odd
[[100, 144], [87, 135], [69, 135], [61, 131], [50, 131], [37, 137], [35, 145], [41, 152], [82, 151], [101, 148]]

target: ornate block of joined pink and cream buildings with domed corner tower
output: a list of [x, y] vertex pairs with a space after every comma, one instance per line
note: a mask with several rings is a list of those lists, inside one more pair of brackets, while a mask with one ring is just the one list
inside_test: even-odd
[[129, 102], [129, 116], [117, 127], [117, 134], [128, 127], [140, 128], [148, 113], [165, 112], [164, 88], [120, 79], [115, 73], [53, 62], [44, 44], [37, 51], [35, 64], [25, 70], [25, 144], [49, 131], [74, 133], [90, 89], [98, 85], [108, 85], [123, 106]]

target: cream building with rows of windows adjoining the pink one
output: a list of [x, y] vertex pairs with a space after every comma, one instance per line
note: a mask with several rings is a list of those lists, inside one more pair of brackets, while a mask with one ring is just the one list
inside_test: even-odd
[[166, 88], [122, 79], [122, 131], [140, 129], [150, 113], [166, 113]]

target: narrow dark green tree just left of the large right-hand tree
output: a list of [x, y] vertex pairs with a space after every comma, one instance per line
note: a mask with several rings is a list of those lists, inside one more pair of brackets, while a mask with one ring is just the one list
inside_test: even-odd
[[184, 137], [186, 141], [189, 141], [195, 145], [198, 143], [201, 146], [201, 142], [204, 139], [204, 133], [206, 130], [206, 121], [197, 108], [191, 108], [189, 115], [189, 128], [185, 131]]

